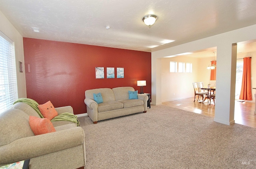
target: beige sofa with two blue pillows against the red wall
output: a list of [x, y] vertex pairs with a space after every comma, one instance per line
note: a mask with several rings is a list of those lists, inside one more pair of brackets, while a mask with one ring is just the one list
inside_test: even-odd
[[[134, 91], [133, 87], [96, 88], [85, 91], [84, 103], [87, 114], [96, 124], [100, 120], [126, 116], [138, 112], [147, 112], [146, 94], [138, 94], [138, 99], [129, 99], [128, 91]], [[101, 93], [103, 103], [97, 104], [93, 94]]]

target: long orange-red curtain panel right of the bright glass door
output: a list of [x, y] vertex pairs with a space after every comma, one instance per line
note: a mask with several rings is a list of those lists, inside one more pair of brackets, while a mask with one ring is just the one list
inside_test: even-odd
[[251, 62], [252, 62], [252, 57], [244, 58], [242, 87], [241, 87], [241, 92], [239, 96], [240, 100], [252, 100]]

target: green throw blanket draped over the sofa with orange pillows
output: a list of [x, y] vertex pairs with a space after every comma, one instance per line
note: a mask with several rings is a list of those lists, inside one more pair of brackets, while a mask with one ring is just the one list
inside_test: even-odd
[[[36, 112], [39, 114], [39, 116], [41, 118], [44, 118], [44, 116], [41, 114], [41, 112], [38, 108], [39, 104], [35, 100], [33, 100], [31, 98], [19, 98], [13, 104], [16, 104], [18, 102], [24, 102], [24, 103], [30, 105], [32, 108], [34, 108], [34, 110], [36, 110]], [[77, 126], [79, 126], [79, 121], [77, 119], [77, 116], [72, 113], [68, 113], [68, 112], [59, 114], [58, 116], [54, 117], [51, 120], [51, 122], [56, 122], [56, 121], [70, 121], [70, 122], [76, 123]]]

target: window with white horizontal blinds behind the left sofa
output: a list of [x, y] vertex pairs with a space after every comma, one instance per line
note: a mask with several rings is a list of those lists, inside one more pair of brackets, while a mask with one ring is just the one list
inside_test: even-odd
[[14, 42], [0, 32], [0, 113], [18, 99]]

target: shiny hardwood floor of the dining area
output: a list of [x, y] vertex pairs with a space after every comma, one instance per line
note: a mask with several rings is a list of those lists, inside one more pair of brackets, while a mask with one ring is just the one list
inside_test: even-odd
[[[206, 100], [204, 104], [202, 104], [197, 101], [194, 102], [194, 97], [163, 102], [162, 104], [182, 110], [187, 110], [189, 112], [204, 114], [210, 117], [214, 117], [215, 114], [215, 105], [213, 101], [210, 104]], [[234, 113], [235, 123], [256, 128], [256, 114], [254, 114], [254, 106], [255, 102], [236, 101]]]

